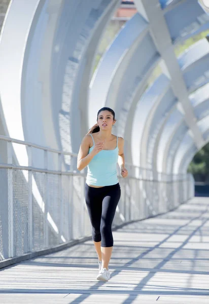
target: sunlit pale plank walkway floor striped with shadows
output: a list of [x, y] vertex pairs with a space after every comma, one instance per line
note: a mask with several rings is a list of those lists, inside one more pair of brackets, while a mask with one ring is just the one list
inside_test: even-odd
[[209, 303], [209, 199], [114, 232], [109, 282], [91, 241], [0, 271], [0, 303]]

